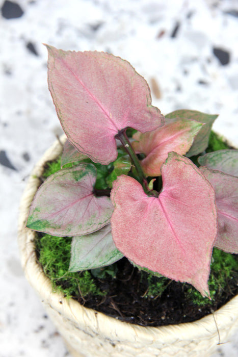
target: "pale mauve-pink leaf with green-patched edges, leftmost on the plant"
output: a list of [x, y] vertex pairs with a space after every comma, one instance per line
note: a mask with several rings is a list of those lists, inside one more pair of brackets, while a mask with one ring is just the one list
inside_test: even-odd
[[40, 186], [30, 208], [27, 226], [55, 236], [95, 232], [110, 222], [109, 197], [95, 197], [96, 168], [81, 164], [50, 175]]

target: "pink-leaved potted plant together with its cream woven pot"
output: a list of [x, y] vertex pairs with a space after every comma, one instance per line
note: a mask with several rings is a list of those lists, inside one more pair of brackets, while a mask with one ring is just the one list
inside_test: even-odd
[[210, 299], [214, 247], [238, 252], [238, 150], [204, 155], [217, 115], [179, 110], [164, 117], [128, 62], [47, 49], [49, 90], [67, 140], [61, 170], [40, 185], [45, 162], [62, 152], [58, 142], [22, 198], [19, 243], [27, 277], [75, 356], [209, 355], [218, 331], [226, 340], [237, 327], [237, 297], [193, 323], [118, 321], [52, 291], [36, 261], [35, 231], [73, 237], [72, 272], [126, 257], [141, 271], [189, 283]]

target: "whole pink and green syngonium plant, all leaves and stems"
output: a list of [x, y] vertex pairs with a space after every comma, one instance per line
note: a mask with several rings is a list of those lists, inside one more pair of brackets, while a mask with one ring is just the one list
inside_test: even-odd
[[[217, 115], [164, 117], [127, 61], [47, 49], [67, 140], [62, 168], [39, 187], [27, 226], [73, 237], [70, 271], [125, 256], [209, 297], [213, 247], [238, 253], [238, 150], [203, 155]], [[189, 159], [198, 154], [199, 168]]]

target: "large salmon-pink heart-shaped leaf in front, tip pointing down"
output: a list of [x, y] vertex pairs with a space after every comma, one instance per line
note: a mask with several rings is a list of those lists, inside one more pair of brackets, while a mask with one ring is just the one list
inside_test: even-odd
[[162, 179], [158, 197], [147, 196], [132, 177], [114, 182], [114, 242], [135, 264], [190, 283], [207, 296], [217, 235], [214, 190], [189, 159], [175, 152], [162, 166]]

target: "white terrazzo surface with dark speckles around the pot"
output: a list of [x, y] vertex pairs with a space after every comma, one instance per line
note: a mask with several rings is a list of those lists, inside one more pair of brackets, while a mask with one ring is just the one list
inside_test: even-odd
[[[166, 114], [220, 114], [214, 129], [238, 146], [237, 0], [0, 1], [0, 357], [69, 355], [19, 262], [25, 180], [61, 134], [46, 82], [48, 43], [128, 60]], [[238, 338], [213, 357], [236, 357]]]

